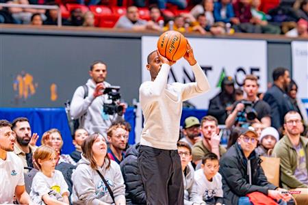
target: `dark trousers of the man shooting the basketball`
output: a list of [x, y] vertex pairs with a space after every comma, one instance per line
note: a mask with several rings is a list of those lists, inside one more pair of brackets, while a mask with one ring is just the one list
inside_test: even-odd
[[138, 165], [148, 205], [183, 205], [181, 159], [177, 150], [140, 146]]

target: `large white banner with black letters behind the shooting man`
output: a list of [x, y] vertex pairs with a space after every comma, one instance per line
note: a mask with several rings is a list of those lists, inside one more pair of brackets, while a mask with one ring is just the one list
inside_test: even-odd
[[[142, 37], [142, 82], [151, 81], [149, 71], [146, 70], [146, 58], [157, 49], [158, 37]], [[205, 38], [188, 38], [194, 49], [198, 64], [203, 68], [211, 90], [202, 96], [189, 100], [198, 109], [208, 109], [209, 100], [220, 88], [216, 87], [222, 72], [235, 79], [238, 86], [246, 74], [255, 74], [259, 79], [260, 92], [266, 91], [266, 41], [264, 40], [222, 40]], [[194, 74], [184, 58], [179, 59], [169, 74], [168, 83], [174, 81], [188, 83], [194, 81]]]

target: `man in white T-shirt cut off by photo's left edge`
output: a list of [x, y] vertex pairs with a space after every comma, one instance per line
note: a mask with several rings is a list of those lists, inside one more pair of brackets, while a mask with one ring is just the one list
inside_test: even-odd
[[23, 162], [13, 153], [15, 136], [12, 124], [0, 120], [0, 203], [13, 204], [14, 195], [21, 204], [33, 204], [25, 191]]

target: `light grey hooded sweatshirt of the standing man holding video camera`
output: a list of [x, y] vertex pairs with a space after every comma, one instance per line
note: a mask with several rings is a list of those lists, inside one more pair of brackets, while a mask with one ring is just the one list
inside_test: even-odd
[[[105, 87], [110, 87], [110, 83], [103, 82]], [[72, 102], [70, 103], [70, 115], [74, 119], [79, 120], [80, 127], [85, 128], [88, 133], [100, 133], [107, 137], [107, 129], [112, 125], [112, 122], [122, 120], [123, 117], [118, 114], [107, 115], [103, 112], [104, 103], [112, 102], [108, 99], [107, 94], [94, 98], [93, 93], [96, 83], [92, 79], [88, 79], [88, 96], [84, 98], [84, 87], [79, 86], [74, 93]]]

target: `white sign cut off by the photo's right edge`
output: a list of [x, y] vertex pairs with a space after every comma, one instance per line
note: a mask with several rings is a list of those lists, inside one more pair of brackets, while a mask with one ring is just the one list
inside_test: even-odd
[[[308, 100], [308, 42], [292, 42], [292, 79], [298, 85], [298, 98]], [[308, 105], [308, 103], [306, 104]], [[308, 107], [307, 107], [308, 109]]]

